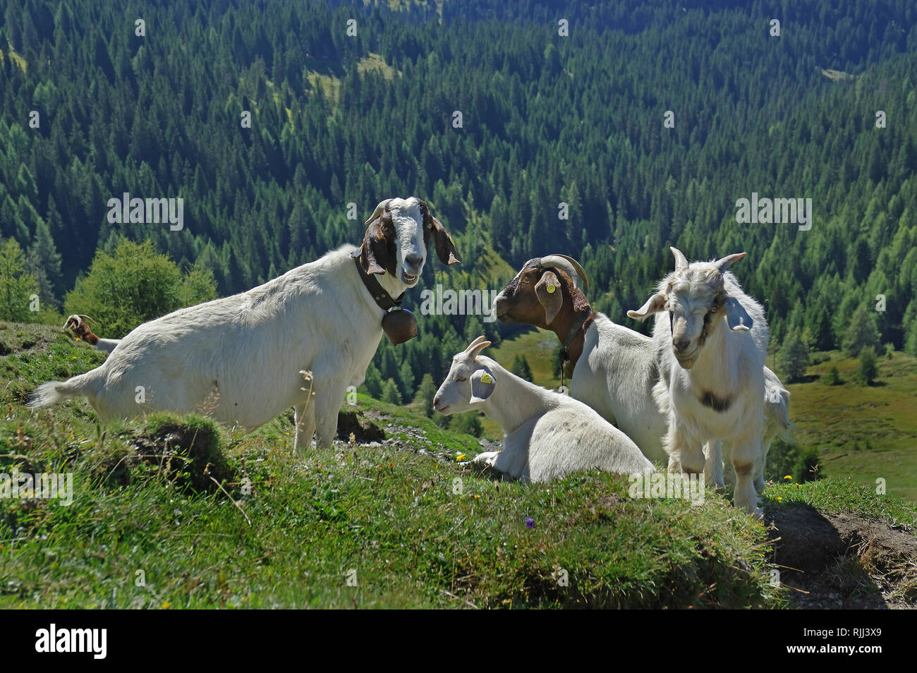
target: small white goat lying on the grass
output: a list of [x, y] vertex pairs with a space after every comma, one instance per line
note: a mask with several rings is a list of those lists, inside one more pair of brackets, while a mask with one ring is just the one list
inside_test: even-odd
[[583, 469], [652, 472], [631, 439], [585, 404], [547, 391], [480, 355], [484, 337], [452, 359], [433, 406], [440, 414], [481, 410], [503, 428], [503, 450], [475, 457], [513, 479], [550, 481]]

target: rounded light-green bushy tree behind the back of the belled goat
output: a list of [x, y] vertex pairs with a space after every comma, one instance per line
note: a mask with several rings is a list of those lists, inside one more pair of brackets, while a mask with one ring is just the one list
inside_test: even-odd
[[113, 252], [99, 251], [89, 273], [68, 292], [64, 306], [68, 313], [91, 315], [104, 327], [105, 337], [117, 338], [214, 295], [207, 271], [193, 268], [182, 274], [149, 240], [138, 244], [122, 239]]

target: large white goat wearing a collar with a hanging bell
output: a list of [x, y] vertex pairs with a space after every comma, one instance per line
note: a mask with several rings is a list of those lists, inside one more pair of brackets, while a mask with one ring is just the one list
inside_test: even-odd
[[[293, 406], [294, 446], [308, 446], [317, 431], [318, 446], [329, 447], [337, 411], [348, 386], [363, 381], [386, 314], [357, 265], [398, 297], [416, 284], [431, 238], [444, 264], [458, 262], [446, 229], [419, 199], [383, 201], [367, 225], [359, 249], [343, 246], [248, 292], [139, 325], [105, 363], [40, 385], [29, 406], [83, 395], [110, 421], [215, 405], [216, 420], [249, 430]], [[311, 402], [301, 370], [312, 372]]]

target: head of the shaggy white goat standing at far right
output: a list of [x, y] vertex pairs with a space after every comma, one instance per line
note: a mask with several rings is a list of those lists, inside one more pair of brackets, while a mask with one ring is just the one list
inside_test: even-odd
[[672, 353], [682, 368], [690, 370], [724, 317], [735, 331], [747, 332], [753, 325], [751, 316], [735, 297], [729, 296], [724, 285], [726, 270], [746, 253], [689, 264], [678, 248], [669, 249], [675, 255], [675, 270], [659, 282], [656, 294], [643, 306], [627, 314], [646, 320], [651, 314], [668, 311]]

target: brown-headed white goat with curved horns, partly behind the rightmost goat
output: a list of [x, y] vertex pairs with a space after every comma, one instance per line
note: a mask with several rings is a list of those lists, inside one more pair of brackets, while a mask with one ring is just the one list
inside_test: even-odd
[[[592, 311], [580, 286], [588, 290], [589, 279], [576, 259], [566, 255], [529, 259], [496, 296], [493, 311], [504, 324], [523, 323], [554, 332], [573, 368], [570, 395], [623, 430], [646, 458], [668, 461], [662, 442], [668, 414], [659, 409], [653, 395], [659, 381], [653, 339]], [[764, 372], [768, 386], [765, 446], [770, 447], [789, 425], [789, 393], [774, 372], [767, 367]], [[704, 450], [709, 458], [706, 480], [722, 488], [720, 445], [711, 443]], [[762, 458], [756, 471], [759, 491], [764, 491], [764, 464]]]

